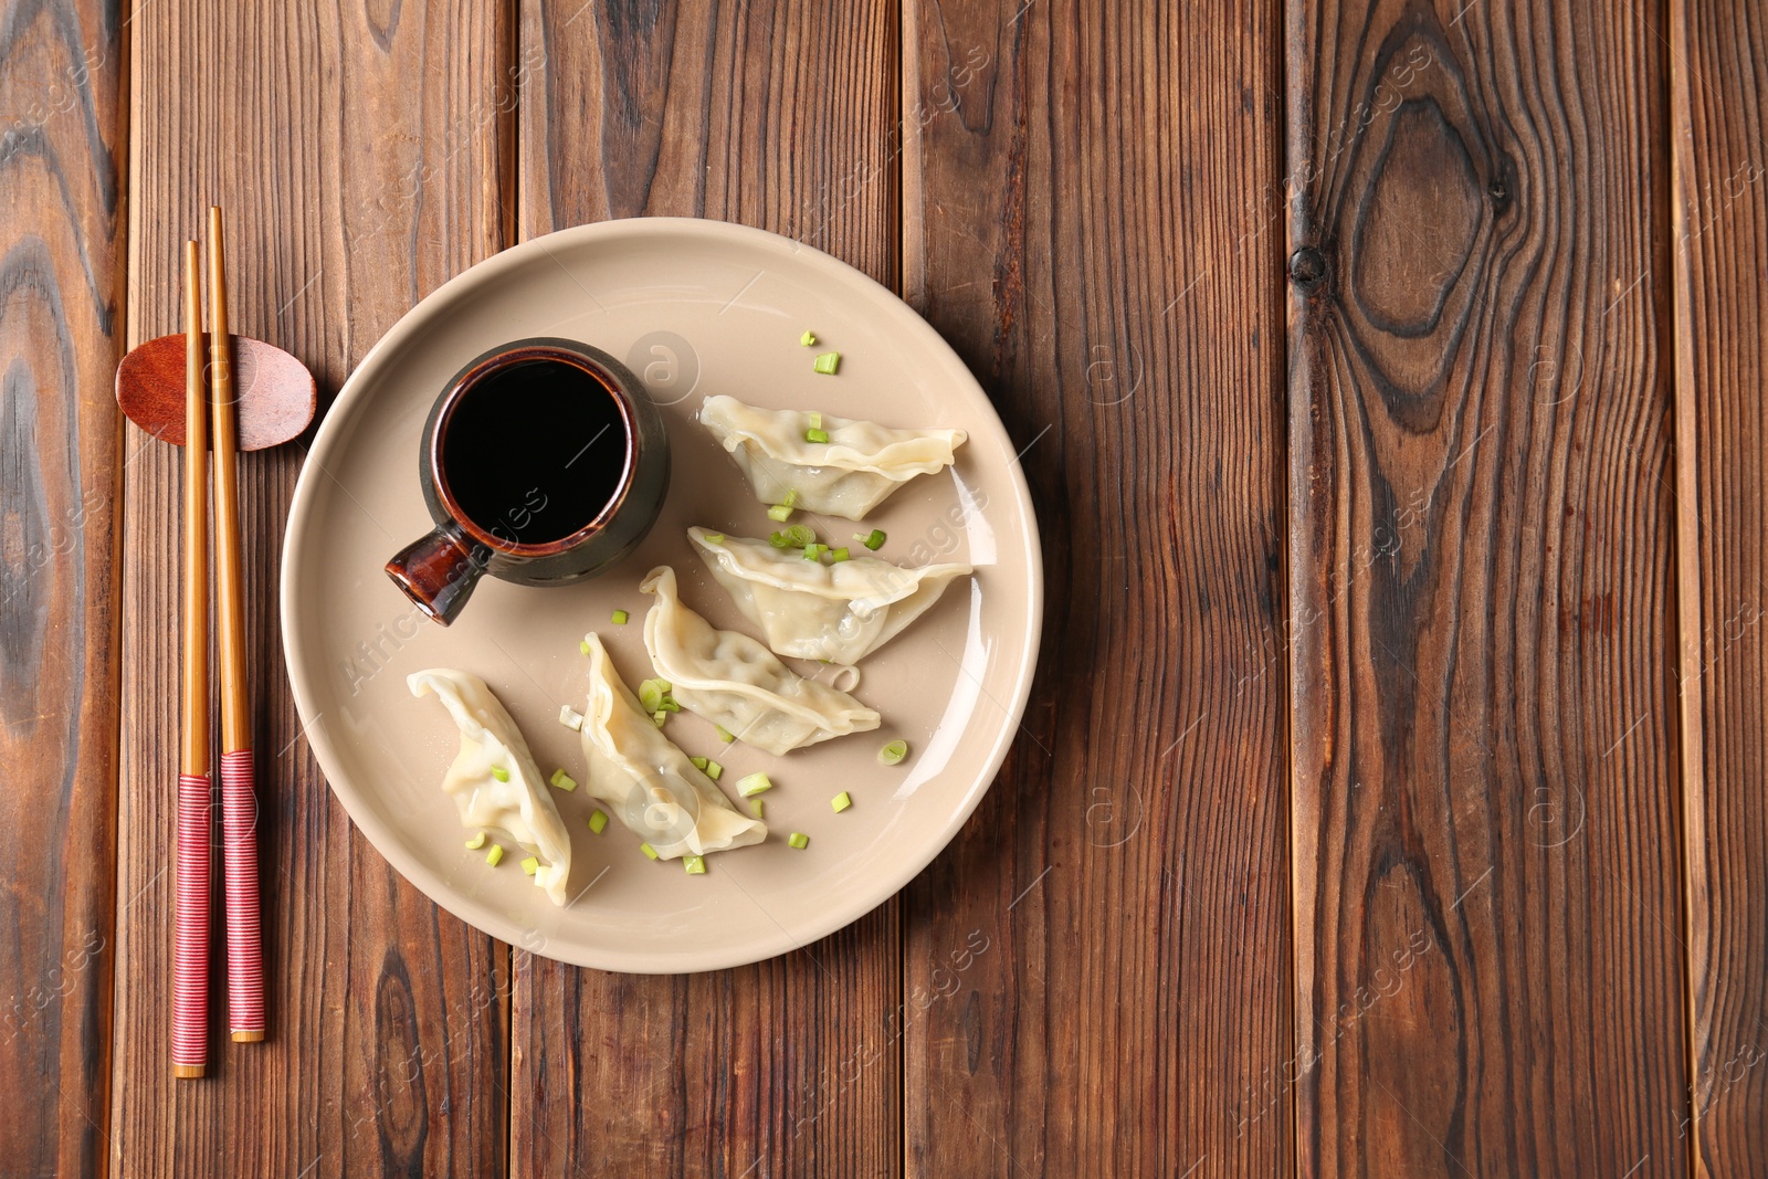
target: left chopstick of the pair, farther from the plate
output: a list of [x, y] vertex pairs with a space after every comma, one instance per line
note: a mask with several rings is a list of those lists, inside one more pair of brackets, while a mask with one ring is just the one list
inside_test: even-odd
[[209, 1064], [209, 435], [203, 295], [184, 242], [184, 698], [179, 751], [177, 916], [171, 933], [171, 1075]]

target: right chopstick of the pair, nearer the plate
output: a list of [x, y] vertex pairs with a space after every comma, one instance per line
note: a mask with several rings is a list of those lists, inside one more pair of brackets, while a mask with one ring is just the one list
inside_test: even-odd
[[209, 398], [216, 431], [216, 629], [221, 649], [221, 856], [226, 875], [228, 1025], [263, 1039], [263, 935], [258, 914], [258, 797], [246, 691], [240, 590], [239, 407], [226, 315], [221, 210], [209, 210]]

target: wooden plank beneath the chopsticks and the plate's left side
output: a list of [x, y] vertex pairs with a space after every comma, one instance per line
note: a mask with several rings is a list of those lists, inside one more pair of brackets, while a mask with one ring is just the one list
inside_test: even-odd
[[[175, 331], [179, 244], [217, 202], [235, 331], [290, 348], [334, 394], [414, 300], [502, 246], [509, 32], [493, 0], [156, 0], [131, 30], [131, 338]], [[271, 1034], [226, 1043], [217, 955], [202, 1082], [173, 1082], [166, 1059], [179, 456], [152, 444], [127, 470], [118, 894], [138, 900], [118, 932], [115, 1165], [500, 1174], [507, 951], [354, 831], [283, 675], [276, 578], [302, 451], [240, 461]]]

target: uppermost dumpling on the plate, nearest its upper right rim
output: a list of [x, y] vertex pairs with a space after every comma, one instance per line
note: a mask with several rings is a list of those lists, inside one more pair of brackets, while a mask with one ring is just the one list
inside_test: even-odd
[[953, 463], [953, 451], [969, 437], [962, 430], [891, 430], [877, 422], [822, 415], [827, 442], [806, 442], [810, 415], [799, 410], [760, 410], [735, 398], [707, 398], [700, 422], [737, 460], [737, 467], [764, 504], [794, 504], [804, 511], [865, 520], [891, 491], [916, 475]]

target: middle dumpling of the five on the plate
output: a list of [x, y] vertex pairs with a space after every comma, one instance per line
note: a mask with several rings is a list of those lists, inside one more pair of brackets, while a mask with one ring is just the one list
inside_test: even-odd
[[879, 714], [845, 691], [796, 675], [739, 631], [720, 631], [681, 603], [675, 571], [652, 569], [638, 583], [656, 594], [645, 613], [645, 650], [675, 702], [769, 753], [879, 726]]

